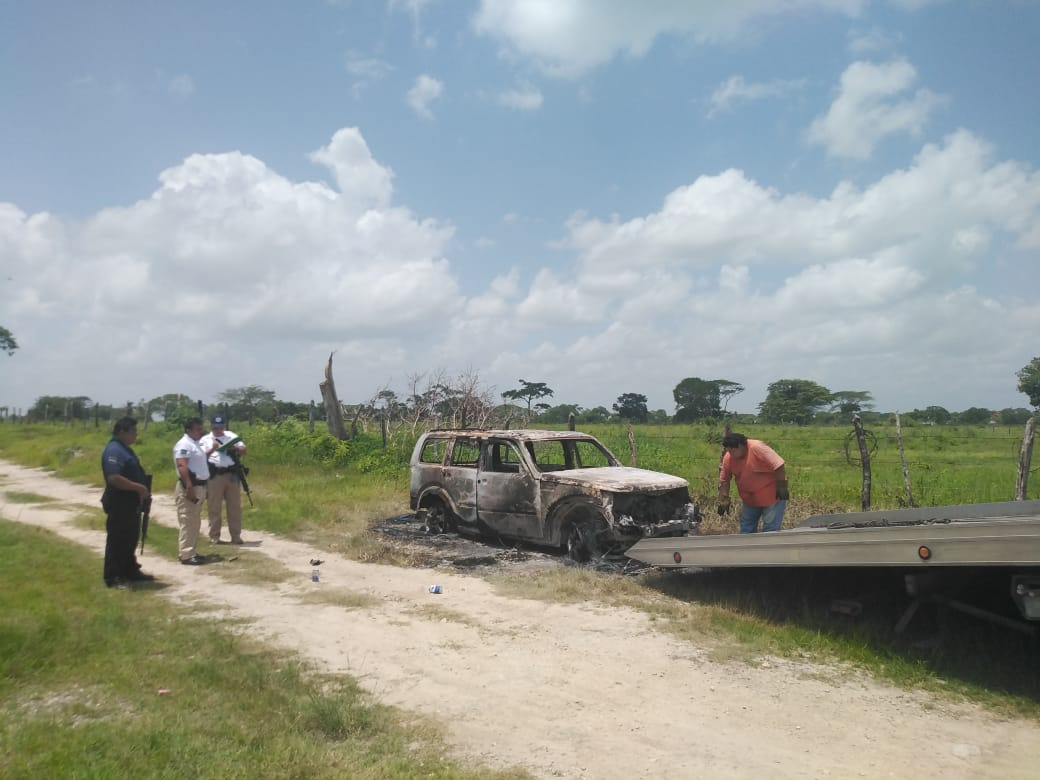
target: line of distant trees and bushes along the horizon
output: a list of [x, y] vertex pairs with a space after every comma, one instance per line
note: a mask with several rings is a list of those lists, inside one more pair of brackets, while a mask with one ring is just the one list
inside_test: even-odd
[[[17, 347], [16, 347], [17, 348]], [[1034, 358], [1017, 373], [1017, 389], [1025, 394], [1034, 411], [1040, 409], [1040, 357]], [[361, 404], [344, 404], [345, 419], [353, 426], [372, 422], [409, 425], [413, 431], [419, 425], [443, 427], [487, 427], [529, 425], [531, 422], [561, 424], [602, 423], [627, 421], [640, 423], [685, 423], [709, 420], [758, 421], [779, 424], [827, 424], [848, 421], [859, 414], [864, 421], [880, 421], [890, 413], [874, 411], [874, 396], [866, 390], [838, 390], [802, 379], [778, 380], [766, 388], [765, 398], [754, 415], [734, 414], [729, 402], [742, 392], [744, 386], [731, 380], [705, 380], [687, 376], [673, 389], [675, 412], [650, 410], [647, 396], [636, 392], [621, 393], [610, 409], [584, 408], [577, 404], [551, 405], [555, 392], [545, 382], [519, 380], [519, 386], [496, 394], [486, 385], [478, 372], [468, 370], [451, 376], [443, 370], [417, 372], [408, 378], [408, 392], [400, 396], [396, 391], [383, 387]], [[500, 397], [501, 401], [496, 398]], [[86, 396], [45, 395], [21, 417], [34, 421], [86, 420], [90, 417], [110, 419], [129, 413], [146, 421], [183, 420], [199, 413], [200, 407], [219, 409], [232, 420], [279, 422], [295, 418], [313, 421], [323, 417], [315, 411], [313, 402], [285, 401], [275, 392], [258, 385], [230, 388], [219, 393], [209, 405], [202, 405], [183, 393], [167, 393], [150, 399], [127, 401], [123, 406], [106, 406]], [[902, 413], [905, 420], [944, 425], [950, 423], [1018, 425], [1024, 423], [1033, 412], [1029, 409], [990, 410], [971, 407], [952, 412], [939, 406], [929, 406]], [[0, 407], [0, 416], [11, 416], [10, 410]]]

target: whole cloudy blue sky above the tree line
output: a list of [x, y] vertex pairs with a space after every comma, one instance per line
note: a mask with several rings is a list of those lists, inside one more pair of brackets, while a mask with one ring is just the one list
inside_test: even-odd
[[0, 4], [0, 407], [1028, 407], [1038, 0]]

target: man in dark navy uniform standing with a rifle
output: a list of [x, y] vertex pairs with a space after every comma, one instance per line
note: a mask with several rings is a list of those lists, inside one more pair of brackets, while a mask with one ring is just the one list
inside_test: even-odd
[[152, 497], [148, 475], [130, 445], [137, 441], [137, 420], [122, 417], [112, 427], [112, 438], [101, 453], [105, 492], [105, 565], [103, 576], [109, 588], [126, 589], [131, 582], [155, 579], [137, 566], [134, 548], [140, 536], [140, 506]]

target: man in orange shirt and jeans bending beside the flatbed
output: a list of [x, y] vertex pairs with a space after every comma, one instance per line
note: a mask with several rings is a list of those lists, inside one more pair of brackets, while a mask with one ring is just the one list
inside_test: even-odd
[[787, 474], [783, 458], [757, 439], [744, 434], [726, 434], [722, 439], [726, 453], [719, 470], [719, 514], [729, 512], [729, 480], [736, 479], [740, 494], [740, 532], [754, 534], [758, 521], [762, 530], [780, 530], [787, 509]]

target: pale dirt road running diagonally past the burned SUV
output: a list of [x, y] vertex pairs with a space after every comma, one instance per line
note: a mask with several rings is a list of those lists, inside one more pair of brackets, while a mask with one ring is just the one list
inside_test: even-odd
[[[99, 554], [102, 531], [76, 527], [100, 488], [0, 461], [6, 519], [47, 527]], [[0, 496], [2, 498], [2, 496]], [[171, 496], [152, 522], [176, 526]], [[168, 598], [349, 674], [375, 700], [434, 718], [453, 751], [540, 778], [1034, 778], [1040, 726], [880, 684], [851, 670], [773, 658], [711, 660], [641, 613], [503, 598], [477, 577], [360, 564], [250, 532], [236, 561], [181, 566], [147, 551]], [[269, 582], [243, 576], [262, 556]], [[320, 557], [321, 581], [309, 560]], [[286, 576], [287, 575], [287, 576]], [[99, 582], [100, 583], [100, 582]]]

